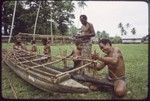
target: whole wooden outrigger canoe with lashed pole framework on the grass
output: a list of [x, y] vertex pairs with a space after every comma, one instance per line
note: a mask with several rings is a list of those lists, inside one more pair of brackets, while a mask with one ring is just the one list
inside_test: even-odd
[[[93, 61], [87, 60], [89, 63], [78, 68], [59, 70], [58, 68], [56, 69], [53, 64], [59, 63], [66, 58], [46, 62], [47, 57], [34, 55], [23, 50], [2, 50], [2, 57], [2, 61], [19, 77], [41, 90], [59, 93], [88, 93], [91, 91], [88, 86], [81, 84], [75, 79], [76, 77], [72, 77], [71, 74], [87, 67], [93, 63]], [[80, 79], [82, 78], [83, 77]], [[93, 77], [87, 77], [86, 80], [82, 79], [81, 81], [101, 83]]]

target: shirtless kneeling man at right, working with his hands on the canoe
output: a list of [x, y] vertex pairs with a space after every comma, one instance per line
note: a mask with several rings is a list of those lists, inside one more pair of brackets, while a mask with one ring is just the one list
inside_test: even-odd
[[95, 68], [101, 70], [106, 65], [108, 66], [108, 77], [106, 81], [112, 83], [114, 86], [114, 93], [117, 97], [123, 97], [126, 94], [126, 82], [125, 82], [125, 64], [121, 51], [112, 47], [109, 39], [99, 40], [100, 49], [106, 53], [105, 57], [101, 57], [98, 54], [93, 54], [92, 58], [99, 60], [102, 63], [98, 64]]

